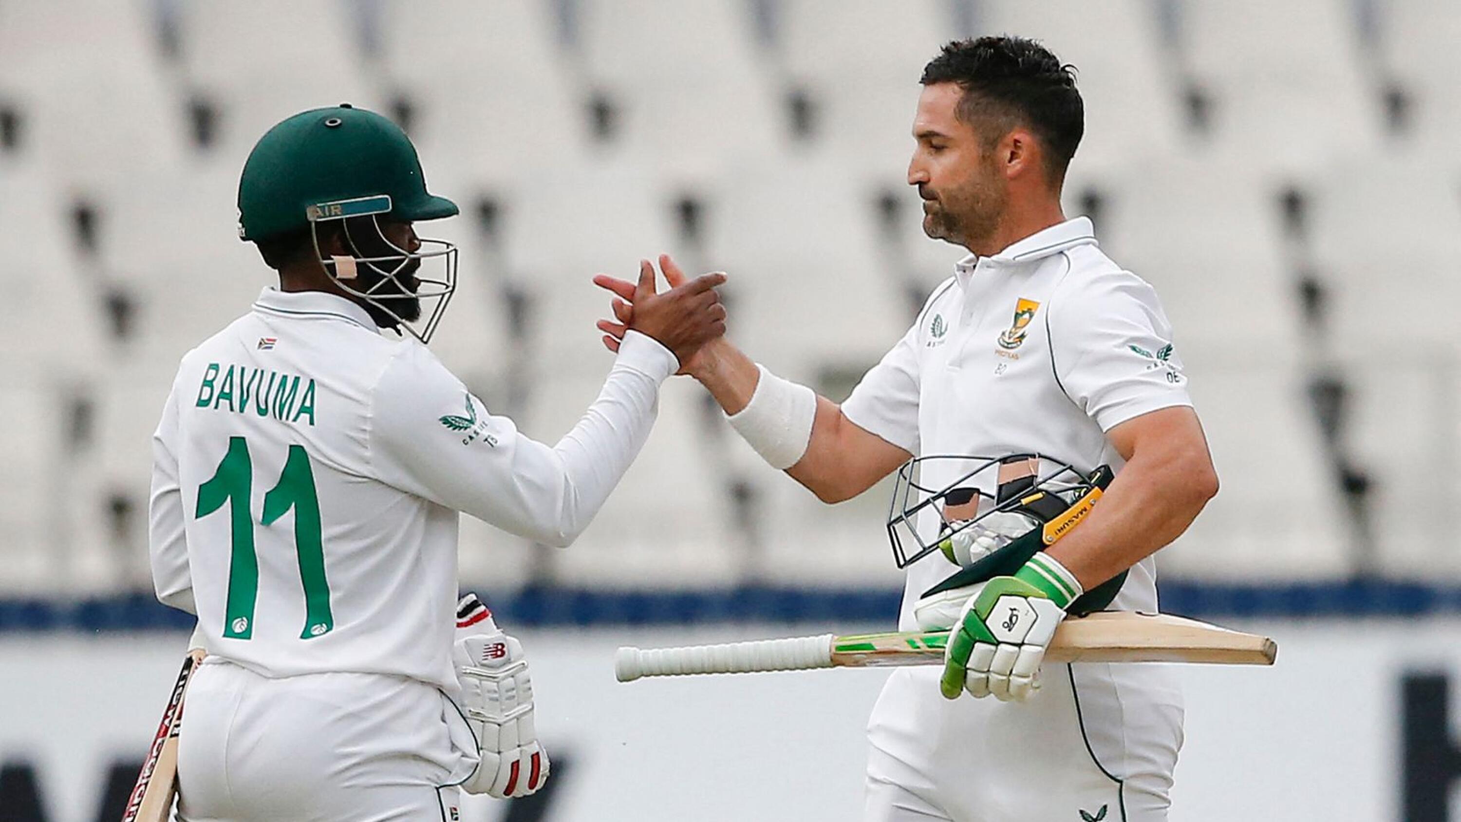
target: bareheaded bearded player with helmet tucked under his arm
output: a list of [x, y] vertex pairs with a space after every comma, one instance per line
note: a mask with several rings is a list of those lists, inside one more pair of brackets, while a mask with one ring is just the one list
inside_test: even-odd
[[[888, 523], [900, 628], [954, 634], [942, 672], [896, 670], [874, 708], [866, 819], [1164, 821], [1170, 675], [1042, 661], [1068, 613], [1156, 612], [1151, 555], [1217, 492], [1172, 329], [1061, 210], [1084, 120], [1068, 66], [980, 38], [947, 45], [922, 85], [909, 184], [923, 229], [970, 256], [907, 334], [840, 407], [725, 340], [687, 368], [823, 501], [906, 464]], [[633, 285], [598, 282], [619, 296], [599, 327], [622, 350]]]

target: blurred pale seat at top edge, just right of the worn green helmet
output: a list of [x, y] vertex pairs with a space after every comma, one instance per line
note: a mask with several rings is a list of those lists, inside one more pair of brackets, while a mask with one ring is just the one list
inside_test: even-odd
[[[392, 0], [384, 64], [412, 108], [430, 180], [503, 181], [583, 156], [587, 95], [554, 42], [548, 3]], [[451, 25], [443, 25], [451, 20]]]

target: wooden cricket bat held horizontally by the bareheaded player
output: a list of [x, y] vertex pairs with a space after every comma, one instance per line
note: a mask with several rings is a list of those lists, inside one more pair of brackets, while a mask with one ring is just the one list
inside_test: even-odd
[[[820, 667], [944, 664], [948, 631], [792, 637], [682, 648], [619, 648], [619, 682], [641, 676], [754, 673]], [[1166, 613], [1107, 610], [1067, 619], [1045, 654], [1053, 663], [1210, 663], [1273, 664], [1278, 644], [1268, 637], [1229, 631]]]

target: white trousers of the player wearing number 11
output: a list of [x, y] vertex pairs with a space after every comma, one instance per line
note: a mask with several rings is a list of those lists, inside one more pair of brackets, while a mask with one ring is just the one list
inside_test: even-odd
[[[184, 822], [453, 822], [475, 767], [456, 708], [400, 676], [269, 679], [209, 657], [178, 739]], [[470, 731], [468, 731], [470, 734]]]

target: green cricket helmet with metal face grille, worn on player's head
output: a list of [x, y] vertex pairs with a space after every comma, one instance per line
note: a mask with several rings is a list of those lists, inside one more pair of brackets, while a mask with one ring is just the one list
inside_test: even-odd
[[[431, 339], [456, 291], [457, 248], [427, 238], [419, 251], [400, 248], [386, 239], [380, 219], [416, 222], [456, 213], [456, 203], [427, 191], [406, 133], [349, 104], [304, 111], [266, 131], [238, 181], [241, 239], [259, 242], [308, 229], [336, 285], [421, 342]], [[348, 257], [320, 251], [318, 228], [332, 220], [343, 228]], [[427, 260], [441, 260], [444, 273], [416, 276]], [[419, 299], [437, 301], [425, 321], [419, 321]]]

